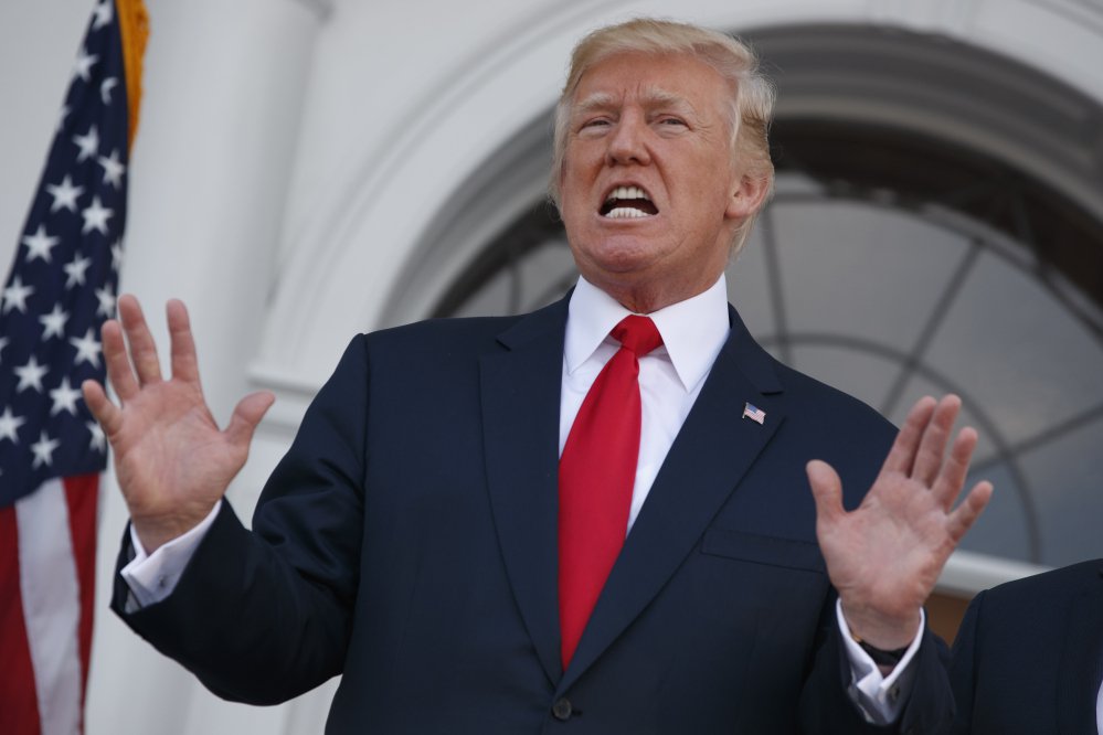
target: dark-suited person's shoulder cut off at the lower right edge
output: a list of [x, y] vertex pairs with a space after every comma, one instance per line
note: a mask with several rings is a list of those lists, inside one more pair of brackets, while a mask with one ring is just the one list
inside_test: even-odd
[[1103, 732], [1103, 560], [977, 595], [950, 677], [955, 735]]

